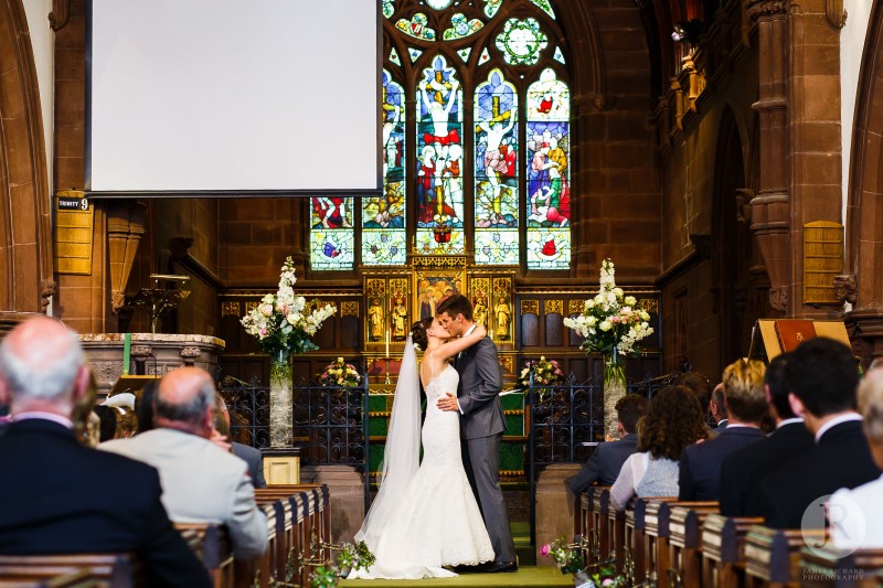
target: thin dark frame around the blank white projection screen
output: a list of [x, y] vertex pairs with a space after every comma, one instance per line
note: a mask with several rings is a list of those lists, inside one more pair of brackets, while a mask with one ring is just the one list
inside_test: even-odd
[[376, 149], [376, 188], [373, 189], [290, 189], [290, 190], [139, 190], [119, 191], [102, 190], [93, 191], [92, 186], [92, 70], [93, 70], [93, 0], [86, 0], [86, 88], [85, 88], [85, 113], [84, 113], [84, 195], [91, 200], [98, 199], [185, 199], [185, 197], [310, 197], [310, 196], [343, 196], [343, 197], [376, 197], [383, 193], [383, 149], [380, 147], [382, 140], [381, 117], [383, 116], [383, 14], [381, 2], [376, 3], [376, 114], [375, 120], [375, 145]]

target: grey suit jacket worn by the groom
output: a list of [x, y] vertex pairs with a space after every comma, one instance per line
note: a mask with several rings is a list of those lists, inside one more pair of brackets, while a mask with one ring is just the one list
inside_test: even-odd
[[499, 435], [506, 429], [500, 391], [503, 374], [497, 345], [485, 338], [466, 349], [455, 362], [460, 374], [457, 400], [460, 404], [460, 437], [478, 439]]

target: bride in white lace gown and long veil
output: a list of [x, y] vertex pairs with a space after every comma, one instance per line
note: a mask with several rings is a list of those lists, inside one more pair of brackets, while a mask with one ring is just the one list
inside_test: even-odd
[[[443, 566], [476, 566], [493, 559], [493, 548], [460, 457], [460, 420], [436, 407], [457, 393], [459, 375], [448, 360], [478, 343], [487, 331], [449, 341], [438, 319], [415, 322], [405, 345], [384, 449], [381, 488], [355, 541], [376, 562], [349, 578], [448, 578]], [[423, 463], [418, 466], [419, 392], [415, 348], [425, 349], [419, 378], [426, 391]]]

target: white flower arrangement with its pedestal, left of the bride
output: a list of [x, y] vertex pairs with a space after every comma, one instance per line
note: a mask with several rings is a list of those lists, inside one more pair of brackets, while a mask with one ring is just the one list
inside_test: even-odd
[[310, 338], [337, 312], [295, 295], [295, 264], [289, 256], [279, 276], [279, 289], [268, 293], [242, 319], [245, 331], [269, 355], [270, 447], [291, 447], [291, 355], [319, 349]]

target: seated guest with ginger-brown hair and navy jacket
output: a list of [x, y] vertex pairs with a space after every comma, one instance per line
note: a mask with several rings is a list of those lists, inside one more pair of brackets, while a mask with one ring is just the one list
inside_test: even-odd
[[723, 459], [765, 438], [760, 431], [760, 420], [767, 411], [764, 364], [737, 360], [724, 370], [722, 384], [724, 398], [721, 405], [728, 421], [714, 439], [683, 450], [678, 481], [680, 500], [719, 500]]

